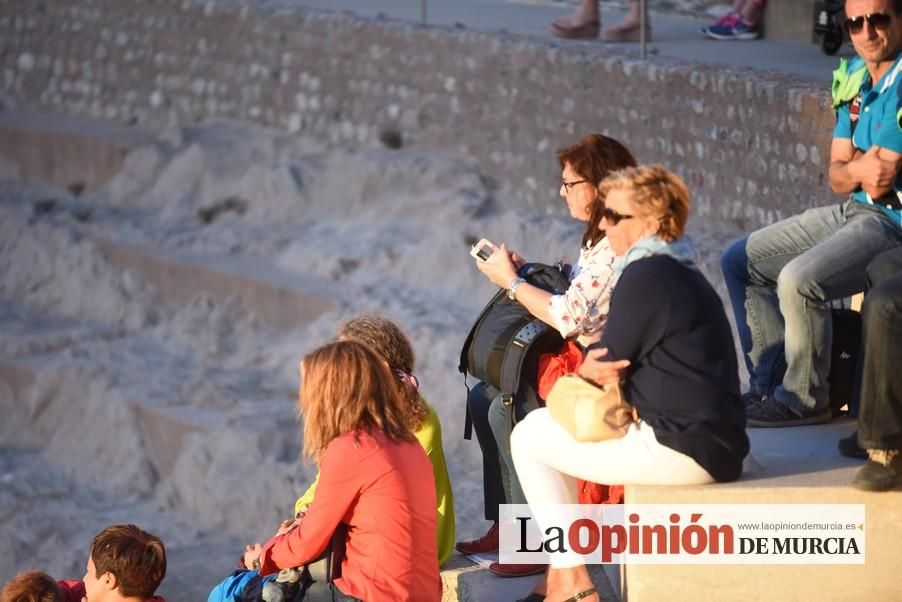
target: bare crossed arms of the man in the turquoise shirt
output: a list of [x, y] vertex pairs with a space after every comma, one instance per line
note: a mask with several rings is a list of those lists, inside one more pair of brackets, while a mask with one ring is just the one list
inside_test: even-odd
[[876, 144], [866, 152], [856, 149], [850, 138], [834, 138], [830, 145], [830, 187], [837, 194], [859, 187], [872, 199], [893, 190], [893, 181], [902, 167], [902, 155]]

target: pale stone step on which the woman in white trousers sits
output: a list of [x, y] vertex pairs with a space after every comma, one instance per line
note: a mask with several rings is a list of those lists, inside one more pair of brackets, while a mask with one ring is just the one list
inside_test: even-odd
[[[864, 565], [631, 565], [620, 569], [629, 602], [669, 600], [899, 600], [902, 492], [866, 493], [849, 486], [862, 462], [844, 458], [837, 441], [850, 419], [798, 428], [749, 429], [760, 468], [734, 483], [697, 487], [628, 486], [637, 504], [864, 504]], [[812, 518], [817, 509], [812, 506]], [[616, 568], [616, 567], [613, 567]]]

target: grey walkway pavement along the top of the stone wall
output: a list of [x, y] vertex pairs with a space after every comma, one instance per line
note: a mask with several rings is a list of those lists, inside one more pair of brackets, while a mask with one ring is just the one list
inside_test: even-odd
[[[244, 0], [242, 4], [268, 7], [306, 6], [322, 10], [347, 11], [364, 17], [383, 15], [403, 21], [420, 21], [418, 0]], [[553, 0], [426, 0], [427, 22], [433, 25], [457, 26], [478, 31], [507, 31], [552, 39], [548, 24], [566, 14], [572, 3]], [[699, 29], [717, 14], [707, 9], [707, 2], [649, 2], [653, 41], [650, 56], [671, 57], [685, 61], [707, 62], [740, 69], [750, 67], [800, 76], [811, 82], [827, 84], [838, 57], [824, 55], [813, 43], [755, 40], [752, 42], [718, 42], [704, 38]], [[725, 3], [726, 4], [726, 3]], [[623, 9], [617, 3], [602, 4], [602, 23], [617, 23]], [[692, 7], [695, 6], [695, 10]], [[723, 6], [720, 7], [721, 9]], [[661, 10], [656, 10], [661, 9]], [[562, 46], [603, 45], [598, 41], [560, 40]], [[638, 55], [638, 44], [608, 44], [629, 55]], [[851, 46], [844, 46], [838, 56], [852, 56]]]

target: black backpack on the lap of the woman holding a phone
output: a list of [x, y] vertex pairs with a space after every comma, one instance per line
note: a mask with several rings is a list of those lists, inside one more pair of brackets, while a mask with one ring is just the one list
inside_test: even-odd
[[[529, 284], [552, 294], [563, 294], [570, 286], [564, 271], [557, 266], [527, 263], [517, 275]], [[560, 333], [535, 318], [502, 289], [483, 308], [460, 350], [458, 370], [501, 391], [505, 403], [513, 403], [527, 411], [539, 407], [536, 391], [539, 355], [560, 350], [564, 339]], [[532, 378], [524, 379], [524, 375]], [[469, 387], [467, 387], [469, 392]], [[467, 407], [464, 438], [472, 430]]]

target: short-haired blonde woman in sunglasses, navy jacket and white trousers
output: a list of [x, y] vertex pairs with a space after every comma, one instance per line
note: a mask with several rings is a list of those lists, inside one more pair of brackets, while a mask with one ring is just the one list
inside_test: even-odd
[[[623, 383], [638, 420], [620, 439], [578, 442], [546, 408], [511, 436], [514, 464], [538, 525], [549, 504], [574, 504], [575, 479], [700, 485], [732, 481], [749, 450], [736, 348], [723, 302], [695, 267], [683, 231], [689, 191], [659, 166], [624, 169], [599, 187], [600, 228], [617, 256], [601, 340], [579, 374]], [[598, 600], [582, 557], [553, 554], [549, 600]]]

